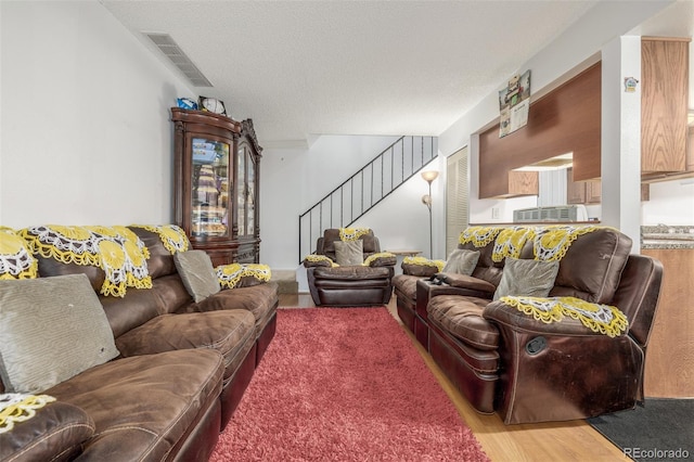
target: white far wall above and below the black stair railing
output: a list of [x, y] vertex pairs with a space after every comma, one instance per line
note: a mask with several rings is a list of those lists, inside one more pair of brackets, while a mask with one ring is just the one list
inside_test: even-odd
[[[322, 136], [306, 150], [266, 149], [260, 163], [260, 259], [275, 269], [295, 269], [298, 217], [363, 167], [399, 137]], [[438, 167], [437, 161], [432, 168]], [[439, 183], [436, 180], [434, 184]], [[383, 249], [415, 248], [428, 254], [428, 211], [417, 175], [354, 226], [368, 227]], [[440, 195], [433, 193], [435, 201]], [[314, 245], [314, 243], [312, 243]]]

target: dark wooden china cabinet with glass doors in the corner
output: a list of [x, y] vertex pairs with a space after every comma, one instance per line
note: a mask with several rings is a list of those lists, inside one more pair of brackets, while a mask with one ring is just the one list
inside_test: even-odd
[[258, 145], [253, 120], [171, 107], [174, 213], [193, 248], [214, 266], [258, 262]]

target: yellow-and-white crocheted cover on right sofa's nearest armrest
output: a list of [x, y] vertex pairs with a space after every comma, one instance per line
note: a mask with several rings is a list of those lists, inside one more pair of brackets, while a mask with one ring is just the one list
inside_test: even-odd
[[580, 321], [593, 332], [617, 337], [627, 332], [629, 321], [617, 307], [592, 304], [575, 297], [501, 297], [504, 304], [517, 308], [538, 321], [558, 322], [565, 316]]

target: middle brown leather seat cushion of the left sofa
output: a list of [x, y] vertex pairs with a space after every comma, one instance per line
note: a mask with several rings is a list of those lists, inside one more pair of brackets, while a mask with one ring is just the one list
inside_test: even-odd
[[209, 348], [224, 357], [231, 376], [255, 342], [255, 319], [246, 310], [162, 315], [116, 338], [124, 357]]

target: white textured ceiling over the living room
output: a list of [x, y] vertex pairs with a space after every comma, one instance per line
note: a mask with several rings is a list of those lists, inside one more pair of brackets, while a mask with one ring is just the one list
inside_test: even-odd
[[169, 34], [214, 85], [198, 94], [285, 146], [437, 136], [596, 1], [101, 0], [143, 43]]

